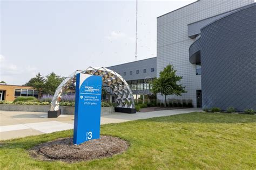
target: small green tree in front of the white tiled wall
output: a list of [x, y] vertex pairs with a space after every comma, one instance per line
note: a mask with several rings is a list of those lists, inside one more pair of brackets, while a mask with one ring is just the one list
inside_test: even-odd
[[181, 96], [181, 93], [186, 93], [185, 87], [182, 84], [177, 84], [182, 79], [182, 76], [176, 75], [176, 70], [172, 65], [168, 65], [160, 72], [160, 75], [152, 84], [152, 92], [164, 95], [164, 107], [166, 107], [166, 95]]

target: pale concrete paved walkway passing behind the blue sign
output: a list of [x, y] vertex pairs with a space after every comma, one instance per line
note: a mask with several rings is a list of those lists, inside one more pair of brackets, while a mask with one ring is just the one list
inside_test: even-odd
[[[100, 124], [120, 123], [151, 117], [170, 116], [201, 111], [201, 109], [176, 109], [124, 114], [115, 112], [102, 115]], [[73, 115], [60, 115], [58, 118], [47, 118], [45, 112], [0, 111], [0, 140], [52, 133], [73, 129]]]

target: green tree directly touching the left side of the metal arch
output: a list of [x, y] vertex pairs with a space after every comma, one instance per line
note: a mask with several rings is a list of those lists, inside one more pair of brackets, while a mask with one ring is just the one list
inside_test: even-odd
[[55, 73], [50, 73], [46, 75], [46, 81], [44, 84], [44, 92], [46, 94], [54, 94], [55, 90], [59, 86], [59, 84], [64, 80], [63, 77], [56, 75]]

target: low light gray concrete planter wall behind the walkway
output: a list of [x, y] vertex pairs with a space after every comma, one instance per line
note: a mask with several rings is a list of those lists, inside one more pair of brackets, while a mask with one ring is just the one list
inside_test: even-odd
[[[75, 107], [60, 106], [62, 114], [74, 115]], [[3, 111], [35, 111], [35, 112], [48, 112], [50, 105], [22, 105], [22, 104], [0, 104], [0, 110]], [[112, 114], [114, 107], [104, 107], [100, 112], [101, 115]]]

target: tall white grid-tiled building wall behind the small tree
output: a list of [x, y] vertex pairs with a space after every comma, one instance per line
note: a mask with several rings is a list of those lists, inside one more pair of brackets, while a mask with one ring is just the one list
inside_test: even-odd
[[[202, 107], [201, 65], [188, 60], [191, 44], [201, 27], [227, 12], [252, 4], [254, 0], [200, 0], [157, 18], [157, 76], [171, 64], [187, 93], [167, 98], [191, 99], [194, 107]], [[158, 99], [164, 100], [158, 95]]]

